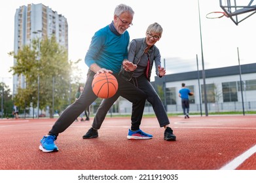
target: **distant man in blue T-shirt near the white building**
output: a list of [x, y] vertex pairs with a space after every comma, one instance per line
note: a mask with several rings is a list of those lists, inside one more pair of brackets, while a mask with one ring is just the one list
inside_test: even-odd
[[182, 88], [179, 90], [179, 97], [181, 97], [181, 105], [183, 109], [183, 114], [186, 118], [189, 118], [189, 95], [194, 95], [194, 93], [186, 88], [185, 83], [181, 84]]

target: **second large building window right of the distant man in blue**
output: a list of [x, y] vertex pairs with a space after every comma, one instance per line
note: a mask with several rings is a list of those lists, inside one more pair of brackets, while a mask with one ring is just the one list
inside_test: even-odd
[[222, 83], [223, 102], [238, 101], [236, 82]]

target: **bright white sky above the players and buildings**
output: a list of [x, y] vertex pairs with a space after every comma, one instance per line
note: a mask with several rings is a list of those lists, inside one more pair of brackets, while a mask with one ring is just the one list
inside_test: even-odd
[[[248, 4], [249, 1], [243, 0], [243, 3]], [[222, 11], [219, 0], [9, 0], [3, 1], [0, 6], [0, 82], [5, 82], [10, 88], [12, 73], [9, 69], [13, 58], [7, 53], [14, 50], [14, 15], [16, 8], [30, 3], [43, 3], [67, 18], [69, 60], [82, 59], [80, 67], [84, 78], [88, 70], [84, 56], [91, 38], [98, 29], [111, 23], [115, 7], [120, 3], [129, 5], [135, 12], [134, 25], [128, 29], [131, 40], [145, 37], [149, 24], [158, 22], [162, 25], [164, 31], [156, 46], [160, 49], [162, 60], [165, 60], [162, 66], [166, 67], [167, 75], [196, 71], [196, 56], [199, 69], [202, 69], [202, 53], [204, 69], [238, 65], [238, 50], [241, 65], [255, 63], [256, 14], [238, 25], [226, 17], [206, 18], [209, 12]]]

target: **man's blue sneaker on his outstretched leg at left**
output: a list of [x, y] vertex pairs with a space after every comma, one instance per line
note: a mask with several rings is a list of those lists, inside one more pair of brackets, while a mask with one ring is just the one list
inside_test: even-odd
[[39, 146], [39, 149], [43, 152], [56, 152], [58, 151], [58, 147], [56, 144], [54, 144], [56, 136], [55, 135], [48, 135], [44, 136], [43, 139], [41, 139], [41, 143]]

